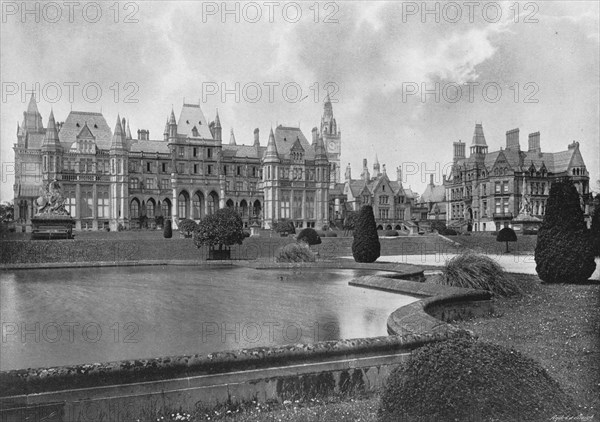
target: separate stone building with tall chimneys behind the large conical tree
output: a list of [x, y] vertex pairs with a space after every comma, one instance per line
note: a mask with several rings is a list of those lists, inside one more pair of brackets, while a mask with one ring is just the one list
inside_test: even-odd
[[566, 151], [542, 152], [540, 133], [535, 132], [529, 134], [527, 151], [523, 151], [519, 129], [513, 129], [506, 132], [506, 148], [488, 152], [483, 126], [477, 124], [468, 158], [465, 144], [454, 143], [452, 172], [444, 181], [447, 224], [474, 231], [510, 226], [524, 195], [530, 199], [532, 215], [543, 219], [552, 182], [565, 177], [577, 187], [589, 218], [589, 173], [579, 142], [570, 143]]

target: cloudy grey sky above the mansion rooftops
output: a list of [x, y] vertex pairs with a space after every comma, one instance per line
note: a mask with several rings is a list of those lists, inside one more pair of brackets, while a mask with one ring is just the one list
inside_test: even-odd
[[432, 13], [422, 2], [271, 4], [29, 2], [23, 15], [21, 2], [2, 2], [0, 200], [12, 199], [31, 89], [44, 125], [51, 109], [58, 121], [102, 110], [111, 127], [119, 113], [160, 139], [185, 98], [209, 120], [218, 109], [226, 139], [233, 128], [252, 143], [258, 127], [263, 144], [277, 124], [309, 135], [330, 89], [354, 177], [378, 154], [421, 193], [482, 122], [490, 150], [517, 127], [525, 149], [535, 131], [545, 151], [577, 140], [600, 179], [597, 2], [428, 2]]

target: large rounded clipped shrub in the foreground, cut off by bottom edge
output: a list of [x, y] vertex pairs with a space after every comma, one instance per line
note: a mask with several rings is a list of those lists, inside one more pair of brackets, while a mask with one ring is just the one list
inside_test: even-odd
[[539, 421], [576, 406], [535, 360], [469, 337], [426, 345], [389, 376], [379, 420]]

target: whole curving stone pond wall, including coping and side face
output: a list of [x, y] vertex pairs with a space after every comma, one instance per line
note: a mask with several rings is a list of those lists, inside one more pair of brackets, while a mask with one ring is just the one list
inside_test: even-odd
[[[384, 262], [256, 262], [249, 266], [351, 267], [392, 271], [396, 273], [393, 277], [402, 277], [404, 269], [406, 277], [423, 279], [421, 269]], [[39, 420], [58, 412], [65, 421], [128, 420], [139, 417], [145, 409], [210, 409], [251, 400], [281, 402], [375, 392], [408, 359], [412, 350], [431, 342], [470, 335], [448, 322], [492, 312], [492, 295], [485, 291], [381, 276], [358, 277], [349, 285], [423, 299], [389, 316], [390, 336], [2, 371], [0, 415], [2, 420], [23, 420], [31, 415]]]

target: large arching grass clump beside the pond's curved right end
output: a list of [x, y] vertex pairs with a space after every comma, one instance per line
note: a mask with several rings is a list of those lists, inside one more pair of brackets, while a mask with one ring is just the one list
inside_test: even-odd
[[489, 290], [499, 296], [514, 296], [522, 292], [516, 279], [493, 259], [473, 252], [457, 255], [447, 261], [435, 282], [446, 286]]

